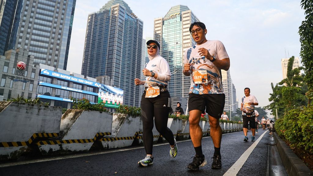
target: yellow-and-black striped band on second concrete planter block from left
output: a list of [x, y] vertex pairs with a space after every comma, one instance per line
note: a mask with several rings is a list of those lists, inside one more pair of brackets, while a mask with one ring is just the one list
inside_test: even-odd
[[70, 143], [90, 143], [95, 142], [100, 137], [105, 135], [111, 135], [110, 132], [98, 132], [93, 139], [68, 139], [68, 140], [49, 140], [49, 141], [39, 141], [36, 145], [57, 145], [57, 144], [70, 144]]

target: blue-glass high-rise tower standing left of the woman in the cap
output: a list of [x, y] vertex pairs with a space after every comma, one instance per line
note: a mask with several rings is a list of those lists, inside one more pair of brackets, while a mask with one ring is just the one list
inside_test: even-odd
[[110, 76], [113, 86], [124, 90], [124, 104], [139, 106], [142, 75], [143, 22], [122, 0], [110, 0], [88, 15], [82, 75]]

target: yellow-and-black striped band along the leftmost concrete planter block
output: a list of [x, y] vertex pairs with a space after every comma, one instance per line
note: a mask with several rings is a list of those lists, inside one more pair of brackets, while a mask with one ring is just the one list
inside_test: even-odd
[[0, 147], [20, 147], [30, 145], [36, 138], [58, 137], [59, 133], [34, 133], [28, 141], [0, 142]]

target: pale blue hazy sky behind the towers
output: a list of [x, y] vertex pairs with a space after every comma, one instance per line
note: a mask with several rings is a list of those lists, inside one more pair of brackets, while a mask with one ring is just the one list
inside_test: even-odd
[[[223, 42], [230, 59], [230, 75], [237, 99], [249, 87], [259, 107], [268, 105], [274, 85], [283, 79], [281, 59], [300, 55], [300, 0], [124, 0], [143, 21], [143, 39], [153, 37], [154, 18], [164, 17], [172, 6], [187, 5], [206, 25], [208, 40]], [[107, 0], [77, 0], [67, 70], [81, 73], [87, 18]], [[300, 57], [299, 57], [300, 58]]]

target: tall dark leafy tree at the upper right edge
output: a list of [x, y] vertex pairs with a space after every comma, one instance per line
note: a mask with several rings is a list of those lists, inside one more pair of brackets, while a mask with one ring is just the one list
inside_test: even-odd
[[304, 66], [305, 82], [308, 86], [306, 96], [308, 104], [313, 98], [313, 1], [301, 0], [301, 7], [305, 10], [305, 20], [299, 27], [301, 42], [301, 63]]

